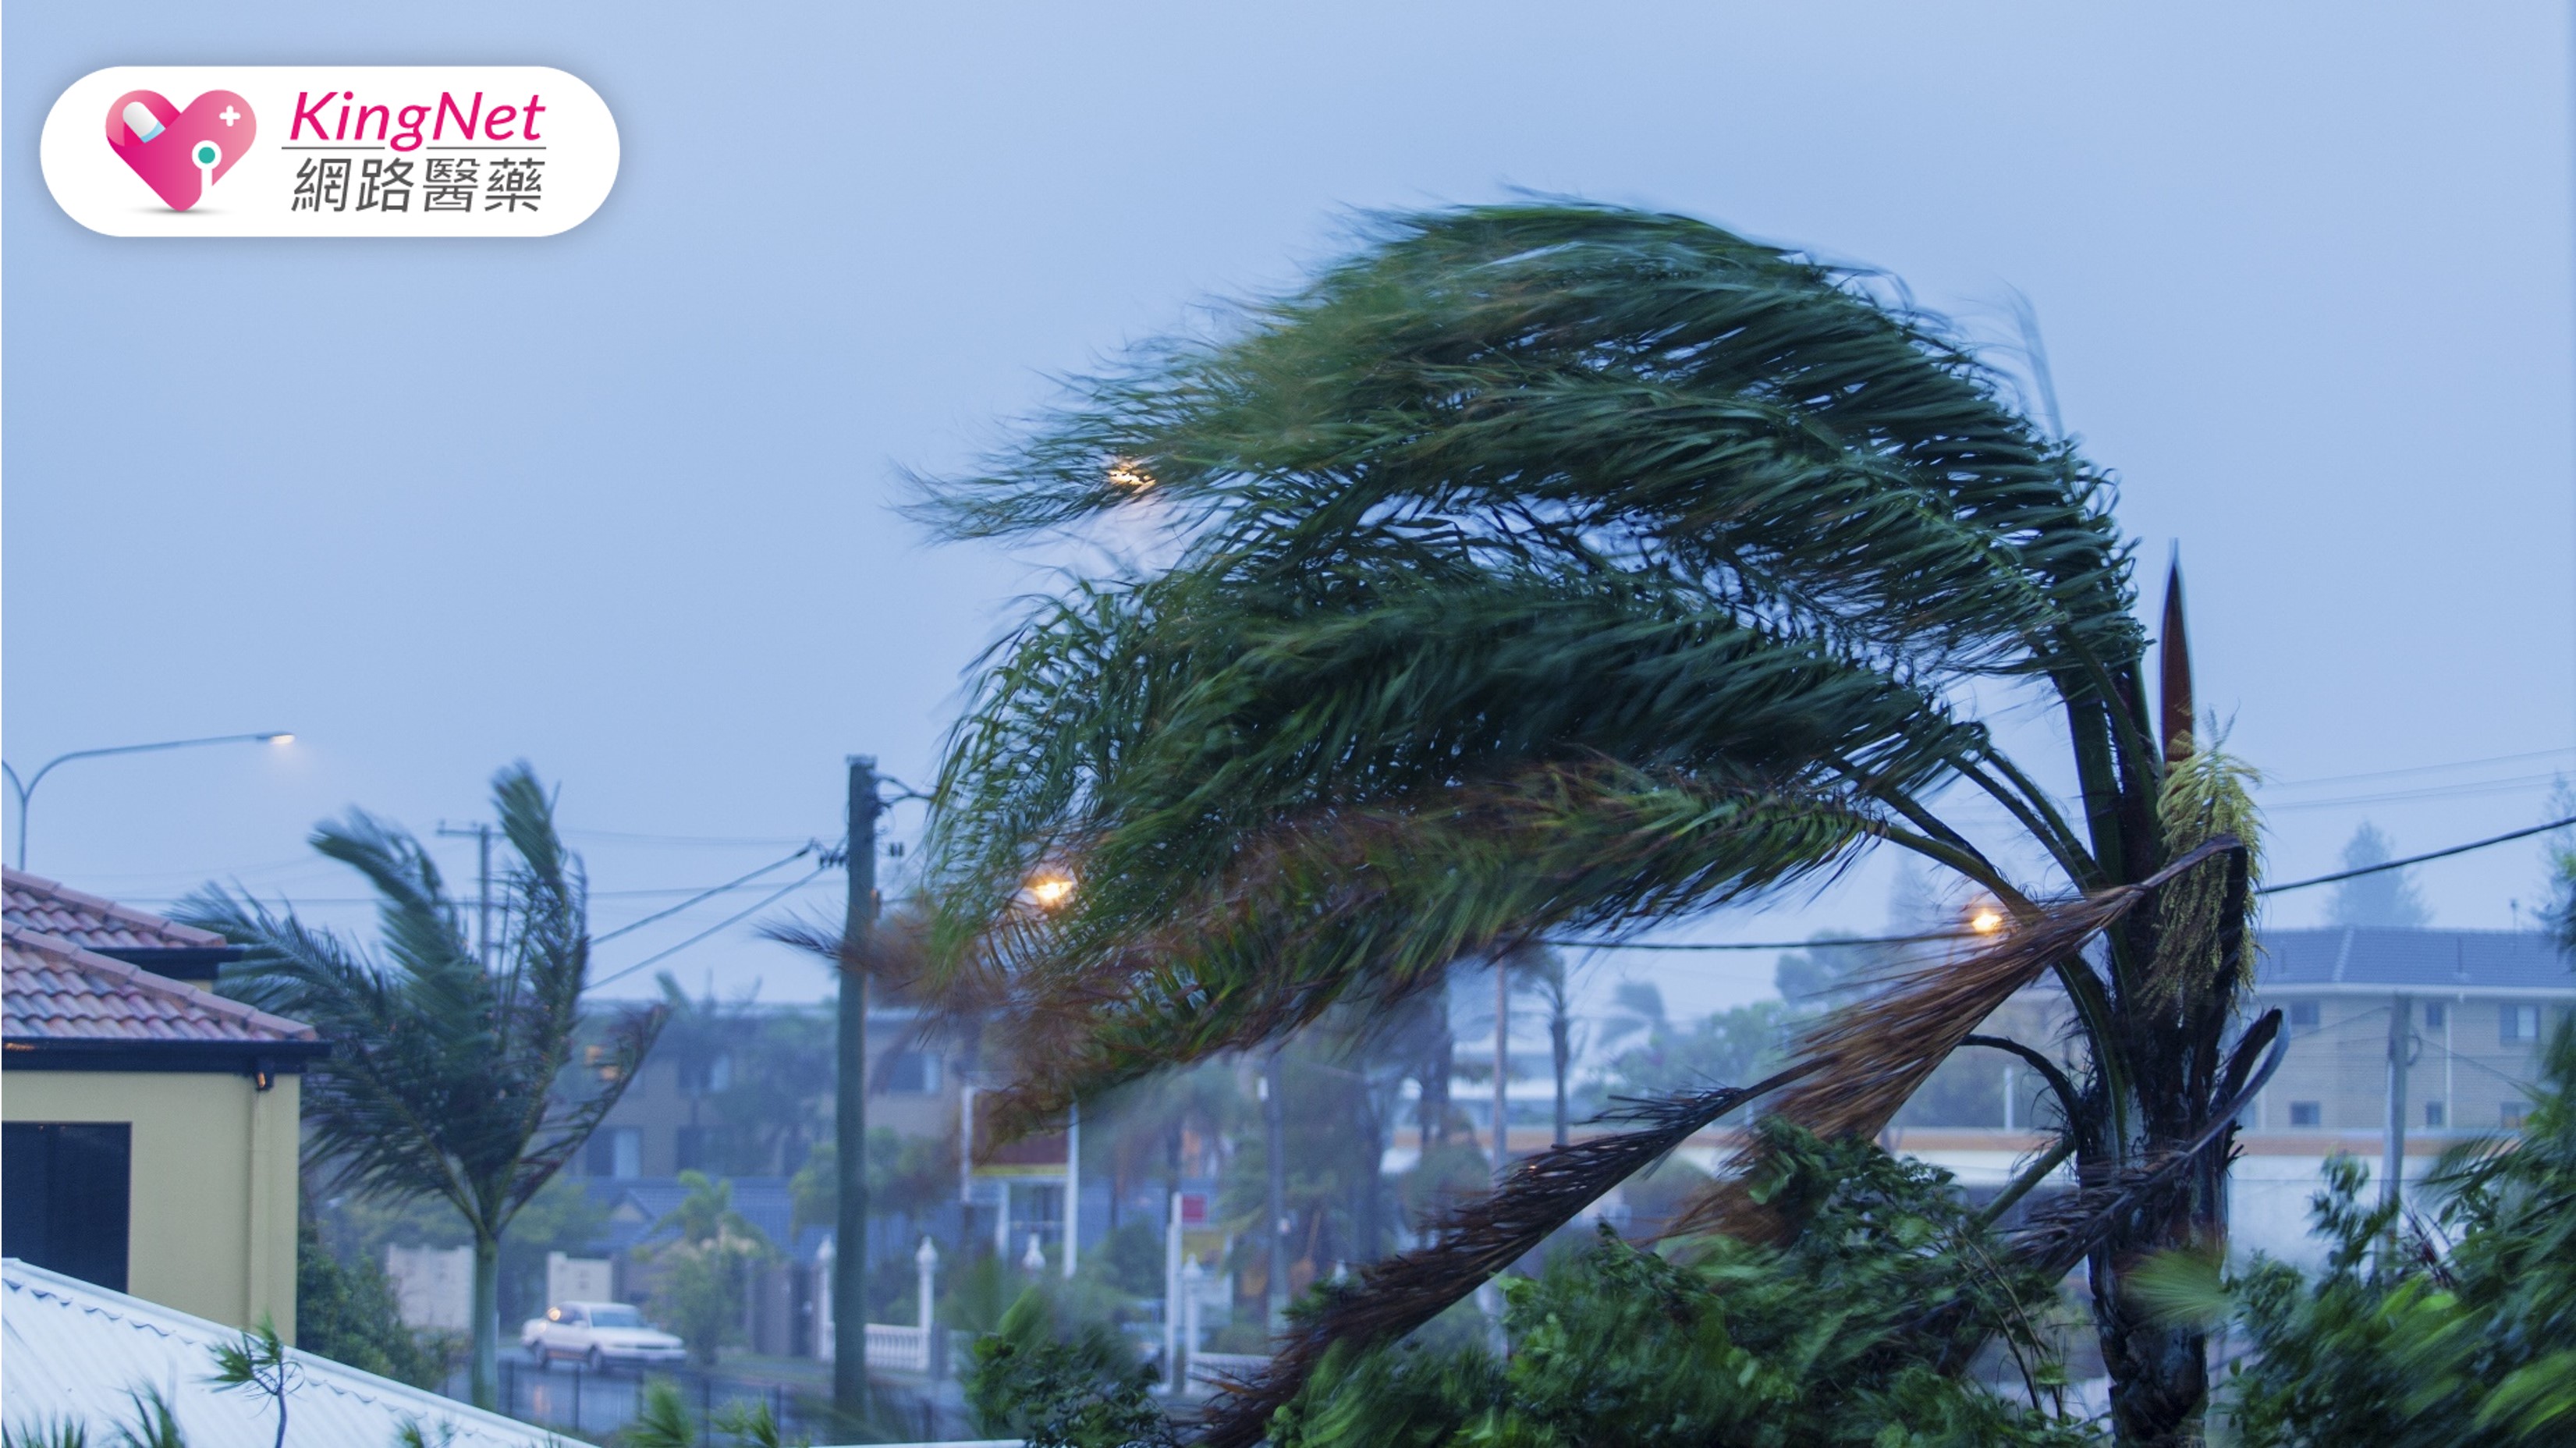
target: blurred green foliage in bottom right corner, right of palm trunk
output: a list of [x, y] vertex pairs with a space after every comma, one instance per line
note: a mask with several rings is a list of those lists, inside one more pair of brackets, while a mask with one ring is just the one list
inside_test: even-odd
[[2249, 1448], [2576, 1443], [2576, 1025], [2550, 1038], [2535, 1098], [2519, 1136], [2427, 1177], [2429, 1221], [2362, 1206], [2367, 1170], [2329, 1162], [2326, 1270], [2257, 1262], [2233, 1283]]

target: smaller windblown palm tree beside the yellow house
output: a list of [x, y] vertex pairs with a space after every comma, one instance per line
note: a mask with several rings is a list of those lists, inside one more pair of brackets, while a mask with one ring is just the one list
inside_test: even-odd
[[[294, 912], [206, 886], [183, 917], [247, 946], [224, 989], [312, 1023], [332, 1041], [304, 1095], [307, 1157], [332, 1180], [389, 1198], [440, 1198], [474, 1237], [477, 1407], [500, 1373], [500, 1239], [618, 1103], [662, 1028], [626, 1013], [590, 1036], [587, 884], [554, 830], [554, 801], [520, 763], [492, 778], [502, 873], [495, 964], [484, 969], [438, 866], [366, 812], [312, 845], [376, 889], [381, 953]], [[590, 1041], [585, 1046], [585, 1038]]]

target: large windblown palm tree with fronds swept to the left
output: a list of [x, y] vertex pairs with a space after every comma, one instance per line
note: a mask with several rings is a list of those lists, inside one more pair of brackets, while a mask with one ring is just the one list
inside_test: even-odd
[[[2159, 727], [2110, 479], [1901, 289], [1682, 216], [1391, 216], [1301, 291], [1144, 348], [981, 474], [925, 487], [958, 538], [1108, 515], [1172, 536], [1170, 567], [1043, 600], [943, 765], [935, 958], [999, 969], [1012, 1018], [1059, 1043], [1023, 1056], [1018, 1121], [1337, 1000], [1401, 1002], [1455, 961], [1906, 850], [1994, 902], [1986, 930], [1814, 1028], [1765, 1082], [1772, 1110], [1870, 1136], [2053, 974], [2081, 1080], [1973, 1041], [2053, 1082], [2092, 1183], [2025, 1250], [2089, 1260], [2123, 1440], [2197, 1430], [2200, 1332], [2123, 1283], [2221, 1229], [2275, 1028], [2233, 1028], [2244, 770], [2192, 737], [2179, 587]], [[2063, 724], [2071, 801], [1973, 714], [2030, 701]], [[1945, 791], [2009, 827], [1971, 837]], [[1038, 868], [1082, 879], [1069, 910], [1012, 904]], [[1731, 1103], [1677, 1098], [1633, 1149], [1528, 1162], [1461, 1221], [1481, 1244], [1373, 1268], [1213, 1438], [1257, 1435], [1332, 1337], [1455, 1301]], [[1695, 1221], [1795, 1232], [1741, 1175]]]

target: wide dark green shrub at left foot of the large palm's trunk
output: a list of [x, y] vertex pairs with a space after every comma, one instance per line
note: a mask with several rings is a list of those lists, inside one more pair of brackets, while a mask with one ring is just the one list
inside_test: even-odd
[[[1602, 1229], [1540, 1278], [1507, 1278], [1502, 1363], [1481, 1342], [1334, 1350], [1280, 1417], [1275, 1448], [1448, 1443], [2027, 1445], [2097, 1438], [2061, 1404], [2032, 1322], [2053, 1283], [2002, 1262], [1947, 1175], [1857, 1141], [1765, 1126], [1772, 1198], [1814, 1203], [1790, 1247], [1641, 1252]], [[1947, 1371], [1994, 1337], [2025, 1402]]]

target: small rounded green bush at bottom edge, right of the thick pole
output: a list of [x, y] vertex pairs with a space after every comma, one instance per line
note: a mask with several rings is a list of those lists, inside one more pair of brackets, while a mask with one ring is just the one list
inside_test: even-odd
[[1170, 1443], [1149, 1389], [1154, 1368], [1133, 1342], [1069, 1311], [1046, 1286], [1010, 1304], [974, 1345], [966, 1407], [976, 1430], [1028, 1448], [1128, 1448]]

